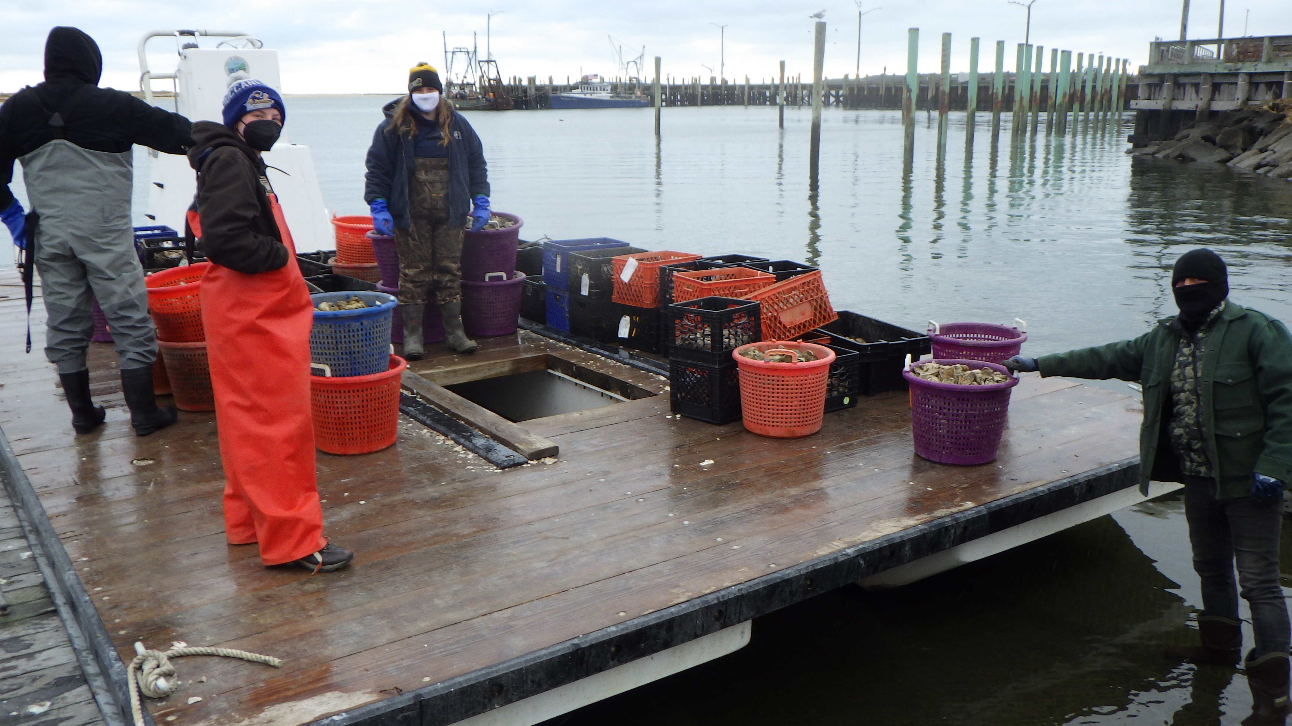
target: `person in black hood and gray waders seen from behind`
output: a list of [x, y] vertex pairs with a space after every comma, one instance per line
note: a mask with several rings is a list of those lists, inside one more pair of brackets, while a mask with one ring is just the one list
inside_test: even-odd
[[[49, 31], [45, 81], [0, 106], [0, 220], [18, 247], [34, 245], [47, 311], [45, 357], [58, 367], [72, 428], [84, 434], [103, 422], [85, 363], [90, 301], [97, 300], [116, 342], [130, 424], [146, 435], [173, 424], [176, 413], [158, 408], [152, 395], [156, 333], [130, 226], [130, 147], [183, 154], [193, 140], [183, 116], [98, 88], [102, 67], [90, 36], [74, 27]], [[35, 235], [9, 191], [14, 159], [22, 161], [40, 220]]]

